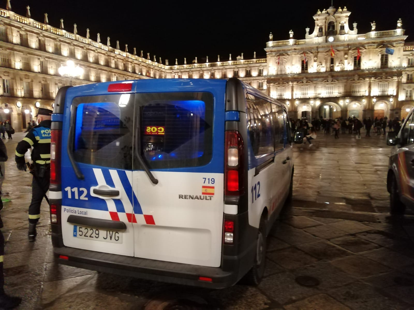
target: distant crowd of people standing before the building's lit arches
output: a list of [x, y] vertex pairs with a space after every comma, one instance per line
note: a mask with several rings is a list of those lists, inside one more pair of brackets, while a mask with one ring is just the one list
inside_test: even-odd
[[[404, 123], [404, 119], [400, 120], [398, 117], [395, 119], [388, 119], [388, 117], [375, 117], [375, 119], [364, 118], [361, 122], [357, 117], [348, 118], [336, 118], [336, 119], [324, 119], [323, 117], [314, 117], [311, 122], [308, 122], [306, 118], [291, 120], [292, 132], [303, 131], [306, 137], [309, 147], [312, 146], [310, 140], [316, 139], [318, 131], [322, 130], [324, 134], [335, 134], [335, 139], [339, 139], [339, 133], [342, 134], [356, 134], [357, 139], [361, 139], [361, 129], [366, 129], [366, 137], [371, 137], [371, 129], [377, 136], [385, 135], [387, 127], [389, 131], [400, 131], [401, 125]], [[331, 131], [332, 130], [332, 131]]]

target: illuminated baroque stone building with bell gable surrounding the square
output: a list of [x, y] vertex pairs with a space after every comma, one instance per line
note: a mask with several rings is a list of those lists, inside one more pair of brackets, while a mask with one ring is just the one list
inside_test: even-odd
[[[233, 76], [289, 105], [291, 117], [404, 117], [413, 107], [414, 43], [404, 41], [402, 21], [389, 31], [358, 34], [349, 27], [346, 7], [318, 12], [315, 26], [306, 28], [305, 39], [266, 43], [267, 57], [190, 64], [168, 64], [149, 54], [144, 57], [128, 45], [120, 49], [110, 38], [101, 42], [12, 12], [0, 10], [0, 119], [12, 121], [16, 131], [26, 128], [36, 107], [52, 107], [58, 89], [106, 81], [152, 78], [226, 79]], [[388, 53], [386, 53], [388, 48]], [[392, 55], [391, 55], [391, 54]], [[79, 78], [59, 74], [59, 67], [72, 60], [83, 69]], [[210, 60], [211, 57], [210, 57]], [[216, 60], [216, 58], [214, 59]], [[7, 112], [7, 113], [6, 113]]]

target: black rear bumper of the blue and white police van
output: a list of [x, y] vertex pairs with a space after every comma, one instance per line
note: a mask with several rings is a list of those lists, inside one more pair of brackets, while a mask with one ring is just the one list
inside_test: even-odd
[[[250, 253], [245, 252], [244, 257], [229, 258], [234, 262], [234, 271], [225, 272], [220, 267], [204, 267], [197, 265], [181, 264], [176, 262], [163, 262], [146, 258], [100, 253], [77, 248], [54, 248], [60, 264], [119, 274], [122, 276], [136, 277], [140, 279], [169, 282], [190, 286], [199, 286], [210, 289], [223, 289], [232, 286], [244, 275], [240, 274], [240, 262]], [[249, 251], [250, 252], [250, 251]], [[59, 258], [59, 255], [68, 259]], [[249, 259], [250, 260], [250, 259]], [[241, 268], [244, 269], [244, 268]], [[212, 281], [201, 281], [199, 277], [211, 278]]]

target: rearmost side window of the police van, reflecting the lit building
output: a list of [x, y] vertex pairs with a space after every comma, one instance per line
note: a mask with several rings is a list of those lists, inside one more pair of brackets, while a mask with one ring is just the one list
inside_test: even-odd
[[274, 152], [272, 103], [246, 95], [248, 134], [255, 156]]

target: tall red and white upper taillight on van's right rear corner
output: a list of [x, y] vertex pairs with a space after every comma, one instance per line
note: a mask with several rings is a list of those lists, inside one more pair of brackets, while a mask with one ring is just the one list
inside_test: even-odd
[[240, 132], [226, 131], [224, 150], [224, 194], [238, 196], [244, 193], [244, 144]]

